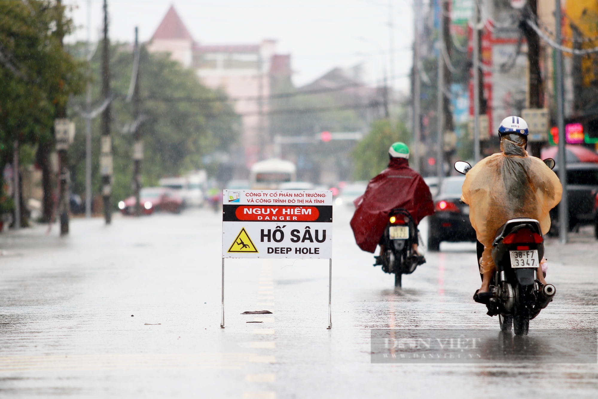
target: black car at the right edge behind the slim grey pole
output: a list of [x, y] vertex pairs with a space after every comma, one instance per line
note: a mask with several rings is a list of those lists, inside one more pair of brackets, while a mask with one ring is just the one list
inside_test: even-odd
[[[554, 168], [559, 176], [559, 167]], [[567, 191], [569, 199], [569, 231], [593, 225], [598, 238], [596, 195], [598, 194], [598, 164], [577, 162], [567, 164]], [[559, 206], [550, 211], [550, 235], [559, 235]]]

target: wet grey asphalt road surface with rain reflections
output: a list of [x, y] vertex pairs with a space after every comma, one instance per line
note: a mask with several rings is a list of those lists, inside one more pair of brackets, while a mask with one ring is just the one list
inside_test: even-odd
[[[596, 364], [372, 364], [370, 329], [498, 334], [498, 320], [471, 299], [474, 244], [443, 243], [395, 292], [350, 216], [335, 207], [332, 330], [327, 260], [227, 260], [219, 328], [221, 221], [209, 210], [75, 219], [62, 239], [56, 226], [2, 234], [0, 397], [598, 396]], [[598, 327], [598, 246], [583, 233], [547, 246], [557, 297], [530, 335]], [[240, 315], [263, 309], [273, 314]]]

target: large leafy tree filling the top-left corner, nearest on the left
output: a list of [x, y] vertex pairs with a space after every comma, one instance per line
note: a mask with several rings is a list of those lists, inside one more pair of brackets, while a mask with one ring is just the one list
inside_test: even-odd
[[39, 144], [46, 219], [52, 208], [47, 158], [56, 109], [84, 86], [81, 64], [62, 48], [62, 36], [72, 30], [64, 11], [47, 0], [0, 2], [0, 167], [11, 158], [14, 140]]

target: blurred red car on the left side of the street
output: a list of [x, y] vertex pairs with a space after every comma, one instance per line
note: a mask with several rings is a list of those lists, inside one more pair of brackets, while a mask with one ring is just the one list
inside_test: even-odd
[[[139, 202], [142, 204], [144, 214], [156, 211], [179, 213], [183, 208], [183, 200], [173, 189], [167, 187], [142, 188], [139, 193]], [[118, 208], [123, 214], [135, 214], [135, 196], [118, 202]]]

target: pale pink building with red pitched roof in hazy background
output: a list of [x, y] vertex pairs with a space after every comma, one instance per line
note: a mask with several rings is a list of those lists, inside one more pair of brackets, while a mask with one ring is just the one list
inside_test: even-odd
[[206, 45], [193, 37], [173, 6], [156, 29], [150, 52], [169, 52], [171, 58], [186, 68], [195, 69], [208, 87], [222, 89], [234, 101], [234, 109], [242, 116], [241, 141], [245, 159], [237, 162], [249, 168], [260, 159], [272, 155], [269, 137], [267, 98], [271, 93], [271, 77], [290, 76], [290, 56], [276, 55], [276, 41], [258, 44]]

